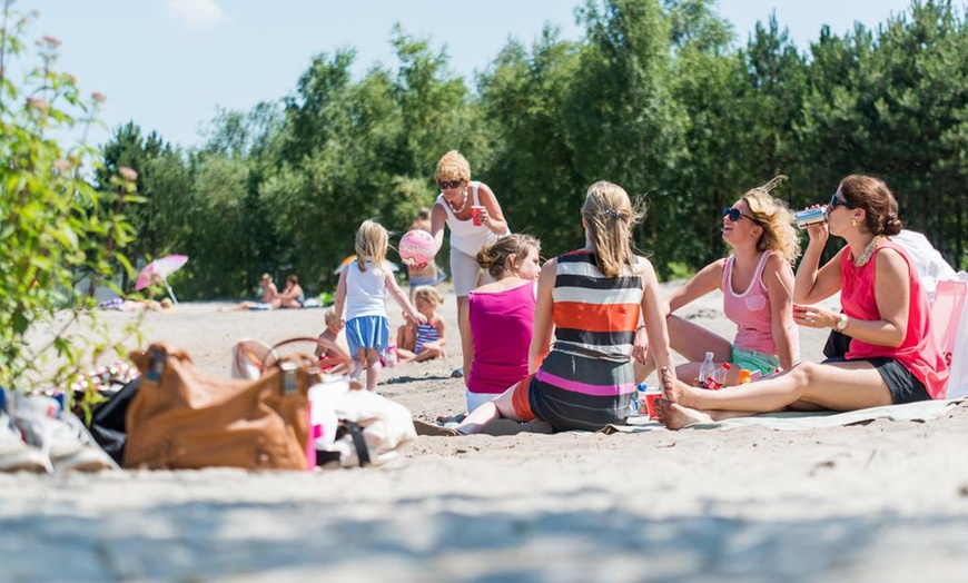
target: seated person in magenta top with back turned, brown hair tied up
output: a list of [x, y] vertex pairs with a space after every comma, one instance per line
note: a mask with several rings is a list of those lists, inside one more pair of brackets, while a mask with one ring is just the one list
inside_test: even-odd
[[527, 235], [501, 237], [477, 253], [494, 281], [471, 292], [461, 315], [467, 411], [527, 376], [540, 253]]

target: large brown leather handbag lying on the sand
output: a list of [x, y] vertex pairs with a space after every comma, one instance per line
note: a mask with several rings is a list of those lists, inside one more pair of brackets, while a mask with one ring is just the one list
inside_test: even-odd
[[221, 379], [164, 344], [131, 353], [141, 387], [125, 417], [125, 467], [306, 470], [312, 357], [276, 356], [257, 379]]

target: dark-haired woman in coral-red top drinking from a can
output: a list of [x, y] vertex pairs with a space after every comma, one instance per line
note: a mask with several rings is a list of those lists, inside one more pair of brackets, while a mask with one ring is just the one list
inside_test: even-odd
[[[902, 226], [893, 194], [877, 178], [848, 176], [830, 198], [827, 217], [828, 223], [808, 227], [793, 319], [852, 337], [846, 357], [801, 363], [728, 391], [700, 391], [660, 375], [669, 396], [659, 406], [660, 418], [668, 427], [788, 407], [853, 411], [945, 397], [948, 367], [931, 330], [927, 296], [907, 253], [887, 238]], [[829, 234], [847, 246], [819, 267]], [[837, 292], [843, 314], [810, 305]]]

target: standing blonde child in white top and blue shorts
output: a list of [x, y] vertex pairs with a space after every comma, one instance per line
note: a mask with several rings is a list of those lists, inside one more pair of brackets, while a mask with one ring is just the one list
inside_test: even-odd
[[356, 230], [356, 260], [343, 269], [336, 286], [334, 309], [339, 316], [339, 328], [346, 330], [346, 344], [354, 365], [350, 376], [358, 381], [365, 367], [367, 391], [376, 389], [379, 357], [389, 345], [387, 289], [407, 317], [421, 324], [427, 322], [393, 277], [386, 263], [388, 240], [389, 236], [379, 223], [363, 221]]

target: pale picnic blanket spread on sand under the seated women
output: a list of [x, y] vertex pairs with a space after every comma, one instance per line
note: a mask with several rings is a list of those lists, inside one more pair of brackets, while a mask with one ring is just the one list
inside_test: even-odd
[[[888, 421], [919, 421], [925, 422], [940, 417], [949, 409], [964, 403], [965, 398], [950, 401], [920, 401], [905, 405], [888, 405], [885, 407], [870, 407], [847, 413], [833, 411], [819, 412], [782, 412], [761, 413], [750, 417], [738, 417], [715, 423], [697, 423], [685, 427], [687, 429], [730, 429], [735, 427], [769, 427], [778, 431], [802, 431], [820, 427], [838, 427], [846, 425], [862, 424], [875, 419]], [[606, 425], [602, 433], [642, 433], [650, 431], [665, 431], [665, 427], [646, 417], [630, 417], [628, 425]]]

